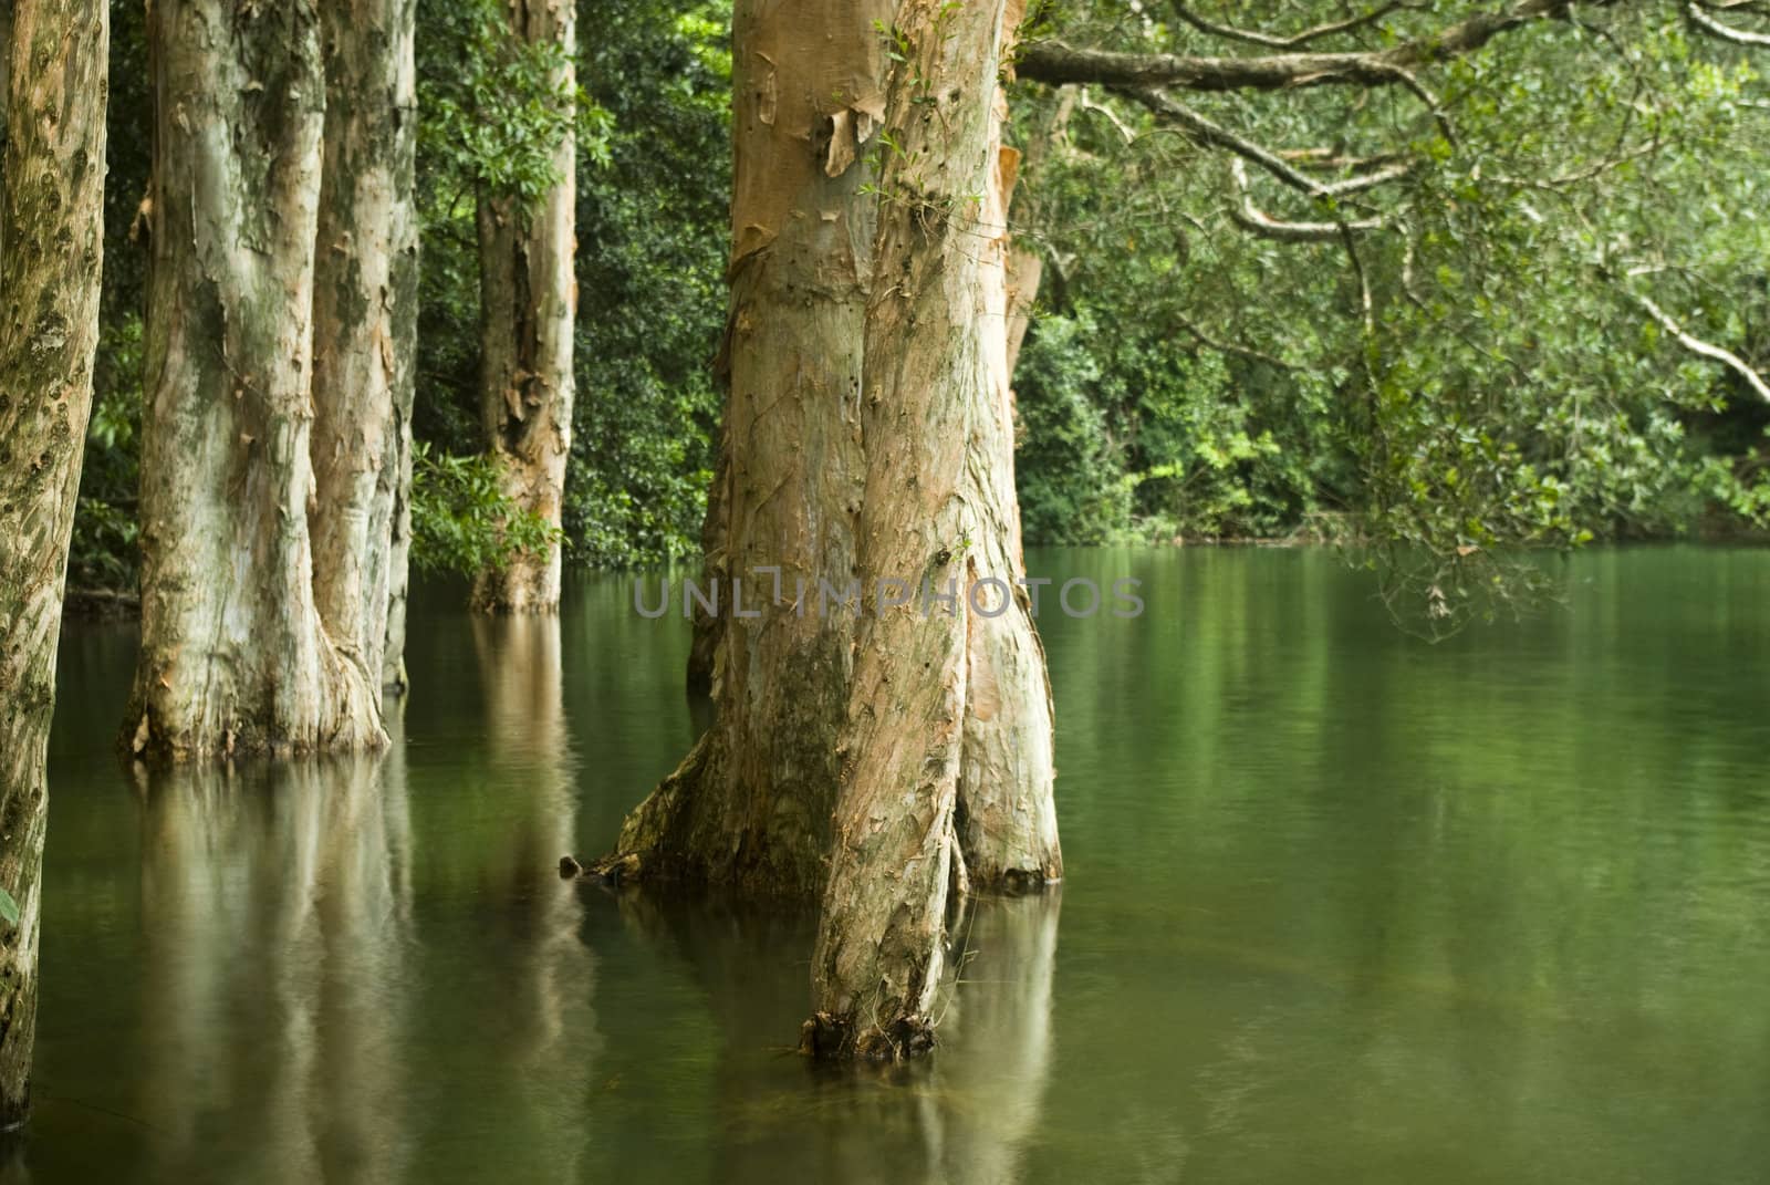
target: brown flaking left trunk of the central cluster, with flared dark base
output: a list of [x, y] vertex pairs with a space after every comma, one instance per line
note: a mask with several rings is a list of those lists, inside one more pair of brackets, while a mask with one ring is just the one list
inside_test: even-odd
[[[713, 505], [724, 585], [719, 716], [634, 811], [620, 859], [646, 879], [811, 898], [825, 880], [853, 615], [860, 331], [871, 282], [869, 143], [892, 0], [738, 0], [733, 12], [731, 314]], [[759, 569], [779, 569], [775, 576]], [[802, 611], [800, 611], [802, 609]]]

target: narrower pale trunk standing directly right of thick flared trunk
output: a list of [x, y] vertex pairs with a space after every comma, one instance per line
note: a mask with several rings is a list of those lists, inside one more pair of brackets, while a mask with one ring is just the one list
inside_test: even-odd
[[373, 687], [404, 684], [418, 347], [416, 9], [416, 0], [320, 0], [313, 599], [338, 654]]

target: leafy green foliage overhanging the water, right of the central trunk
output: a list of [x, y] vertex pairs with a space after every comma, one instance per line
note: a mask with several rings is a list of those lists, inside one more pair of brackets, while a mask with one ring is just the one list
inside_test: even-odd
[[[1478, 9], [1398, 5], [1308, 48]], [[1200, 11], [1267, 34], [1345, 16]], [[1338, 198], [1257, 163], [1243, 191], [1220, 145], [1124, 96], [1018, 92], [1014, 135], [1043, 156], [1014, 213], [1048, 283], [1016, 390], [1028, 425], [1060, 425], [1021, 445], [1028, 538], [1110, 538], [1090, 507], [1122, 478], [1136, 535], [1333, 519], [1398, 611], [1464, 620], [1529, 599], [1536, 577], [1494, 558], [1510, 547], [1763, 528], [1770, 407], [1637, 299], [1770, 370], [1763, 55], [1669, 9], [1575, 16], [1423, 69], [1434, 106], [1400, 85], [1172, 92], [1317, 184], [1405, 167]], [[1071, 44], [1248, 53], [1159, 7], [1071, 0], [1039, 21]], [[1328, 234], [1250, 234], [1243, 204]]]

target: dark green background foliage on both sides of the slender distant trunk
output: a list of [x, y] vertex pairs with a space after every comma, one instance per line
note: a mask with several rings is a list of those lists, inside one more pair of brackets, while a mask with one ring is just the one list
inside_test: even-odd
[[[579, 4], [581, 105], [600, 112], [604, 128], [577, 170], [577, 400], [563, 507], [577, 563], [699, 549], [719, 420], [712, 361], [726, 308], [729, 19], [729, 0], [687, 11]], [[481, 448], [471, 193], [473, 174], [464, 179], [446, 131], [427, 133], [412, 423], [450, 453]]]

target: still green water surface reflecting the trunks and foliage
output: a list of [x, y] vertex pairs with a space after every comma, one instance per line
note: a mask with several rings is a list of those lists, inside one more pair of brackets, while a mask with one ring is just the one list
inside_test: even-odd
[[809, 926], [561, 884], [692, 739], [681, 622], [416, 608], [379, 762], [138, 783], [71, 627], [32, 1181], [1770, 1178], [1770, 553], [1427, 647], [1333, 556], [1039, 553], [1060, 895], [931, 1065], [788, 1052]]

